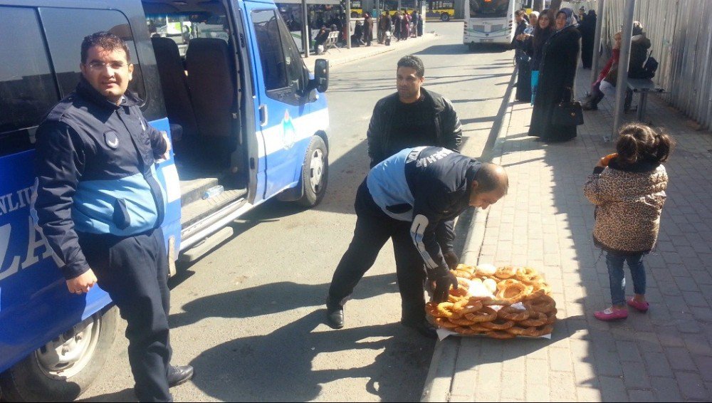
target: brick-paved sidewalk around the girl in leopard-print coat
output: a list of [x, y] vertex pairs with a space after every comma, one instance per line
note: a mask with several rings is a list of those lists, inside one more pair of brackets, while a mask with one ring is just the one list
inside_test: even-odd
[[[589, 79], [590, 70], [578, 71], [578, 98]], [[559, 321], [552, 340], [439, 342], [424, 402], [712, 400], [712, 135], [657, 97], [649, 97], [647, 117], [678, 145], [665, 163], [659, 242], [644, 261], [650, 310], [631, 311], [620, 323], [592, 316], [609, 305], [610, 293], [582, 186], [597, 159], [614, 150], [602, 141], [612, 127], [610, 101], [585, 112], [575, 140], [551, 145], [527, 136], [528, 103], [509, 104], [493, 151], [509, 174], [509, 194], [476, 214], [464, 263], [540, 269]]]

